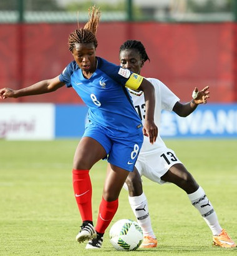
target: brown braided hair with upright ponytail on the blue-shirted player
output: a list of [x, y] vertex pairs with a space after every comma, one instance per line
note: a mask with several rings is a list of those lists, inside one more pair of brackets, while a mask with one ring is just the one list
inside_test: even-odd
[[69, 35], [68, 47], [69, 51], [72, 52], [75, 44], [85, 43], [88, 44], [92, 42], [95, 48], [98, 46], [97, 38], [95, 37], [97, 33], [97, 28], [100, 21], [100, 11], [99, 8], [93, 6], [92, 9], [88, 9], [89, 19], [85, 24], [84, 28], [78, 27]]

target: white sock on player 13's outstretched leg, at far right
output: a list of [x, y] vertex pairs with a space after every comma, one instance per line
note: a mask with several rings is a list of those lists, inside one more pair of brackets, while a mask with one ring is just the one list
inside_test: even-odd
[[188, 198], [191, 204], [200, 212], [206, 224], [210, 227], [212, 234], [219, 235], [222, 229], [218, 222], [216, 212], [211, 202], [206, 197], [205, 191], [199, 187], [198, 190], [192, 194], [188, 194]]

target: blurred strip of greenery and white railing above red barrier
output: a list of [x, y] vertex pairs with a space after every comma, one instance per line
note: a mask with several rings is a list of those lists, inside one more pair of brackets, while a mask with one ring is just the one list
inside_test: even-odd
[[17, 22], [23, 11], [25, 22], [86, 21], [94, 4], [102, 21], [233, 21], [236, 12], [236, 0], [1, 0], [0, 22]]

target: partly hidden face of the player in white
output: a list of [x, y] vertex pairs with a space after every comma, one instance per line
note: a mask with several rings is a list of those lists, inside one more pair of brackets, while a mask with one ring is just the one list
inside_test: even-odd
[[140, 74], [144, 61], [136, 49], [121, 51], [119, 59], [120, 66], [123, 67], [123, 69], [129, 69], [132, 72]]

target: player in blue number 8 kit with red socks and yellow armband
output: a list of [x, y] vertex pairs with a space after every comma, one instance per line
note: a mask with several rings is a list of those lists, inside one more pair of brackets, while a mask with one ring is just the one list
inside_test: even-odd
[[[143, 134], [151, 143], [158, 134], [153, 121], [155, 93], [152, 84], [138, 74], [95, 56], [99, 19], [99, 9], [92, 7], [84, 28], [75, 29], [70, 34], [69, 51], [74, 61], [62, 74], [17, 91], [0, 89], [0, 97], [6, 99], [52, 92], [66, 84], [73, 87], [89, 107], [89, 124], [75, 150], [72, 171], [75, 199], [82, 218], [76, 239], [78, 242], [89, 240], [87, 249], [98, 249], [102, 245], [105, 229], [117, 211], [120, 190], [137, 160]], [[145, 94], [147, 114], [143, 127], [125, 86]], [[107, 172], [94, 228], [89, 170], [106, 157], [111, 169]]]

